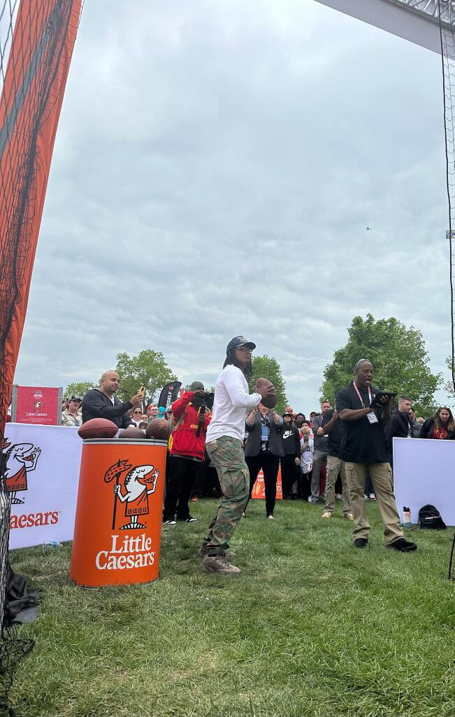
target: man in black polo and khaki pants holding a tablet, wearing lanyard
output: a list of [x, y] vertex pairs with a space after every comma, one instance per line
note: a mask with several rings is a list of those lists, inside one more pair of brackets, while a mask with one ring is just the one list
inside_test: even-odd
[[361, 359], [354, 380], [338, 391], [336, 409], [343, 422], [341, 457], [345, 462], [346, 478], [354, 521], [354, 546], [368, 545], [370, 524], [366, 519], [365, 478], [370, 475], [376, 490], [379, 513], [384, 526], [386, 547], [403, 553], [416, 550], [416, 543], [403, 537], [400, 516], [393, 495], [392, 470], [388, 462], [384, 424], [391, 419], [390, 401], [385, 397], [375, 404], [378, 388], [371, 385], [373, 365]]

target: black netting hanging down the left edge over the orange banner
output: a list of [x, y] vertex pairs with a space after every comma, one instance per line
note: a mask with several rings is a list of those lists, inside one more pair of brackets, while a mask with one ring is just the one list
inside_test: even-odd
[[[39, 140], [64, 87], [68, 63], [62, 57], [72, 48], [80, 11], [80, 0], [0, 0], [0, 457], [25, 308], [21, 319], [16, 310], [26, 302], [46, 186], [40, 170], [50, 161], [40, 158]], [[5, 479], [1, 460], [0, 713], [8, 713], [15, 665], [33, 647], [21, 640], [5, 612], [11, 510]]]

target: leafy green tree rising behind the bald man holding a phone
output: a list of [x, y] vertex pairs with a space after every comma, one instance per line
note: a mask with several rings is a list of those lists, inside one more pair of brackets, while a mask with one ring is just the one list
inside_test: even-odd
[[157, 401], [162, 387], [170, 381], [177, 381], [177, 376], [172, 374], [162, 353], [150, 348], [141, 351], [137, 356], [117, 353], [115, 371], [120, 376], [120, 387], [116, 395], [122, 401], [129, 401], [141, 386], [145, 386], [147, 402]]

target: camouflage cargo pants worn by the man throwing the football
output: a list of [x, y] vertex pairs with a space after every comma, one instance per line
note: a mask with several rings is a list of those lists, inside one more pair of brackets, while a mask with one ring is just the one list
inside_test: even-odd
[[222, 498], [204, 543], [209, 555], [219, 555], [229, 548], [230, 538], [248, 503], [250, 475], [242, 442], [238, 438], [221, 436], [205, 447], [217, 469]]

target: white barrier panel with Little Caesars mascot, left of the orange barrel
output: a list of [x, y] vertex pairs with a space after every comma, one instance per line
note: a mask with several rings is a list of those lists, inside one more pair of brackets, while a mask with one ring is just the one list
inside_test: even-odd
[[6, 424], [9, 548], [72, 540], [82, 440], [77, 428]]

